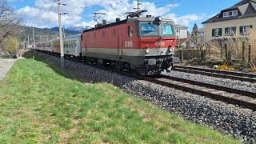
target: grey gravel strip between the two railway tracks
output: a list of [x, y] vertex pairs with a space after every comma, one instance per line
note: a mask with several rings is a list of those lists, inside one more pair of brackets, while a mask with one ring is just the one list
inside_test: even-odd
[[241, 82], [238, 80], [228, 79], [228, 78], [216, 78], [210, 77], [202, 74], [190, 74], [179, 71], [171, 71], [170, 73], [162, 73], [165, 75], [170, 75], [177, 78], [186, 78], [198, 82], [206, 82], [210, 84], [215, 84], [218, 86], [226, 86], [238, 90], [247, 90], [250, 92], [256, 92], [256, 83], [253, 82]]

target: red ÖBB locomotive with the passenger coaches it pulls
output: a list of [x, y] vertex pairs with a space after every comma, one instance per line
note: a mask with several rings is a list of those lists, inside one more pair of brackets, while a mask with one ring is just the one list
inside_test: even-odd
[[[64, 55], [118, 70], [138, 74], [160, 74], [169, 70], [174, 57], [174, 21], [168, 18], [141, 17], [98, 24], [82, 34], [64, 38]], [[38, 42], [37, 50], [60, 54], [59, 39]]]

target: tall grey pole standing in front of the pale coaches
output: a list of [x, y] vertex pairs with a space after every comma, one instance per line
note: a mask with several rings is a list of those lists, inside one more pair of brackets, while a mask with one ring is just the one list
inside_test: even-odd
[[59, 29], [59, 40], [60, 40], [60, 49], [61, 49], [61, 67], [64, 68], [61, 0], [58, 0], [58, 29]]

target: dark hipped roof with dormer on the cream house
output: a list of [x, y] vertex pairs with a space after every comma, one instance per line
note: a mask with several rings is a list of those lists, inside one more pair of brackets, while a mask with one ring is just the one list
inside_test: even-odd
[[[223, 17], [223, 13], [230, 10], [238, 10], [237, 16]], [[213, 18], [202, 22], [202, 24], [210, 22], [221, 22], [238, 18], [250, 18], [256, 17], [256, 0], [242, 0], [234, 6], [231, 6], [225, 10], [222, 10], [219, 14], [216, 14]]]

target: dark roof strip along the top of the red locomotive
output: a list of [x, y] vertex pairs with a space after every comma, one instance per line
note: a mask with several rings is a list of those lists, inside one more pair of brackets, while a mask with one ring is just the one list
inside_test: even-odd
[[[89, 31], [93, 31], [93, 30], [99, 30], [99, 29], [103, 29], [106, 27], [110, 27], [110, 26], [117, 26], [117, 25], [121, 25], [123, 23], [127, 23], [127, 22], [153, 22], [155, 20], [155, 18], [128, 18], [119, 22], [113, 22], [113, 23], [109, 23], [107, 25], [103, 25], [103, 26], [98, 26], [98, 27], [94, 27], [88, 30], [84, 30], [83, 33], [89, 32]], [[162, 22], [174, 22], [172, 19], [169, 18], [163, 18]]]

